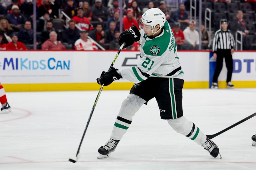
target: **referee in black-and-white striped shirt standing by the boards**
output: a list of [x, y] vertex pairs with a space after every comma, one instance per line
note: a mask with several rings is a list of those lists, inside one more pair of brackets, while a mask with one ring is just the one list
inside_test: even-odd
[[228, 20], [221, 19], [221, 29], [216, 31], [212, 43], [213, 57], [217, 59], [217, 66], [213, 75], [212, 89], [218, 89], [218, 77], [223, 66], [223, 58], [225, 58], [227, 74], [227, 88], [234, 88], [231, 83], [233, 71], [233, 59], [235, 40], [230, 30], [228, 30]]

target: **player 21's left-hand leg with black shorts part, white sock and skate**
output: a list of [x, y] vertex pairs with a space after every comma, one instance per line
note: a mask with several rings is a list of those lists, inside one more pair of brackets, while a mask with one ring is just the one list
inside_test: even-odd
[[144, 103], [147, 103], [148, 100], [153, 98], [152, 93], [146, 92], [147, 89], [149, 89], [148, 86], [146, 86], [147, 82], [148, 81], [145, 80], [143, 83], [135, 83], [133, 85], [130, 95], [121, 105], [110, 139], [98, 150], [98, 159], [109, 157], [111, 152], [115, 151], [120, 139], [132, 123], [132, 116], [135, 115]]

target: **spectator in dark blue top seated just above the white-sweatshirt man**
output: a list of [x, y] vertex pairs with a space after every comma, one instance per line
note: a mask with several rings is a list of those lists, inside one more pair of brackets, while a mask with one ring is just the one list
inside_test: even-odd
[[179, 9], [174, 12], [173, 20], [179, 22], [184, 29], [188, 26], [188, 12], [185, 10], [184, 4], [180, 4]]

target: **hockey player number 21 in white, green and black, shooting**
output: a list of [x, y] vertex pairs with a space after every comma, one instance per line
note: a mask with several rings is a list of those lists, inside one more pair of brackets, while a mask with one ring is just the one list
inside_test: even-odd
[[98, 150], [98, 159], [106, 158], [132, 123], [132, 116], [143, 104], [156, 98], [160, 116], [178, 133], [188, 137], [216, 158], [219, 148], [193, 123], [183, 116], [182, 88], [183, 71], [177, 55], [172, 29], [158, 8], [144, 12], [140, 20], [140, 31], [132, 26], [120, 34], [119, 44], [124, 48], [140, 41], [140, 61], [132, 68], [117, 70], [111, 67], [97, 78], [98, 84], [109, 85], [124, 78], [134, 82], [130, 95], [121, 105], [110, 139]]

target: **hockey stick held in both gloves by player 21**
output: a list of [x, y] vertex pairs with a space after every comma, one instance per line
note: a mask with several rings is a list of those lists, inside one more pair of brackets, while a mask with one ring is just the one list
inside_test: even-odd
[[[124, 44], [125, 44], [125, 43], [123, 43], [123, 44], [121, 45], [121, 47], [119, 48], [119, 50], [118, 50], [118, 52], [117, 52], [117, 54], [116, 54], [116, 56], [115, 56], [113, 62], [111, 63], [110, 67], [113, 67], [114, 63], [116, 62], [116, 59], [117, 59], [118, 55], [120, 54], [121, 50], [122, 50], [123, 47], [124, 47]], [[82, 137], [82, 139], [81, 139], [81, 141], [80, 141], [78, 150], [77, 150], [77, 152], [76, 152], [76, 160], [74, 160], [74, 159], [69, 159], [70, 162], [76, 163], [76, 161], [78, 160], [78, 157], [79, 157], [78, 154], [79, 154], [79, 152], [80, 152], [80, 148], [81, 148], [82, 142], [83, 142], [83, 140], [84, 140], [85, 132], [86, 132], [86, 130], [87, 130], [87, 128], [88, 128], [88, 125], [89, 125], [89, 123], [90, 123], [90, 121], [91, 121], [93, 111], [94, 111], [94, 109], [95, 109], [95, 107], [96, 107], [96, 104], [97, 104], [97, 102], [98, 102], [98, 100], [99, 100], [100, 93], [101, 93], [101, 91], [102, 91], [102, 89], [103, 89], [103, 86], [104, 86], [104, 84], [101, 85], [100, 90], [99, 90], [99, 92], [98, 92], [98, 95], [97, 95], [97, 97], [96, 97], [96, 100], [95, 100], [95, 102], [94, 102], [94, 104], [93, 104], [91, 114], [90, 114], [90, 116], [89, 116], [89, 119], [88, 119], [88, 121], [87, 121], [86, 127], [85, 127], [85, 129], [84, 129], [83, 137]]]

